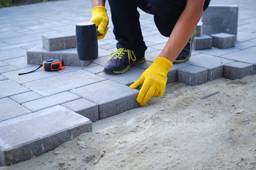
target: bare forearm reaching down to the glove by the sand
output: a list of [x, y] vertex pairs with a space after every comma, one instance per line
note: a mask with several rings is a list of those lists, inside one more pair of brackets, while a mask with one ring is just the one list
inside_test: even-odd
[[171, 62], [175, 61], [203, 15], [204, 2], [205, 0], [187, 0], [186, 7], [159, 57], [167, 58]]

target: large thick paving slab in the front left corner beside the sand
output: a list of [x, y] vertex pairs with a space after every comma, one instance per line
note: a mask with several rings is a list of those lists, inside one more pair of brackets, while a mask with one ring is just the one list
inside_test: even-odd
[[89, 119], [62, 106], [0, 122], [0, 166], [40, 156], [91, 131]]

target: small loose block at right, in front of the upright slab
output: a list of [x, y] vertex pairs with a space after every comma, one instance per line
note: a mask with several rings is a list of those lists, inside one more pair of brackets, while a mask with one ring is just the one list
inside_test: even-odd
[[232, 48], [236, 44], [236, 36], [232, 34], [219, 33], [212, 34], [212, 47], [216, 48]]

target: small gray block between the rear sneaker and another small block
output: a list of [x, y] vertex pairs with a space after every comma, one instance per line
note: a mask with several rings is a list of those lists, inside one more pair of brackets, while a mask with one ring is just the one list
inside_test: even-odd
[[192, 43], [193, 50], [205, 50], [212, 48], [212, 37], [207, 35], [201, 35], [201, 37], [195, 37]]

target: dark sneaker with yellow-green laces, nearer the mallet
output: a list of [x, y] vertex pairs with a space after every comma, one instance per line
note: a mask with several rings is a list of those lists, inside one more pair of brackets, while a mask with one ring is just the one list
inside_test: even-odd
[[[144, 54], [135, 55], [133, 51], [118, 48], [115, 52], [110, 54], [110, 60], [105, 64], [103, 71], [110, 74], [123, 74], [128, 71], [132, 65], [145, 62]], [[137, 56], [137, 57], [136, 57]]]

